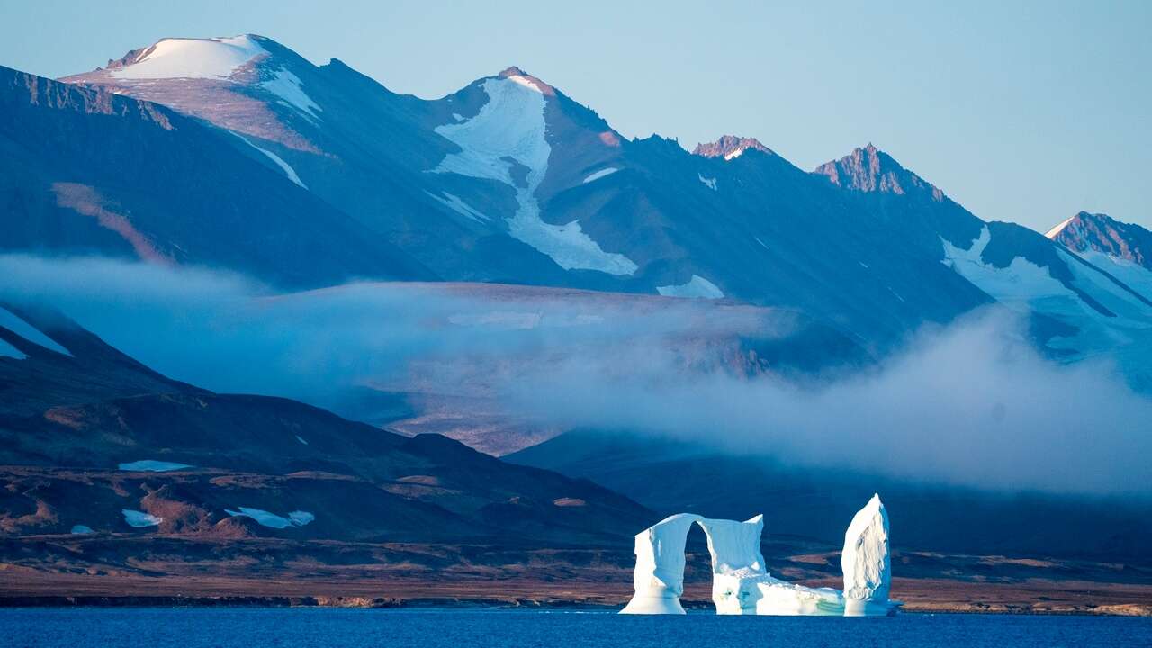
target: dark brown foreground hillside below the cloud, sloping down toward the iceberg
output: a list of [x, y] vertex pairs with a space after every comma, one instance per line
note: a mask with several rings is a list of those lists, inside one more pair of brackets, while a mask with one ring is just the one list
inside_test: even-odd
[[543, 548], [627, 542], [652, 521], [588, 481], [439, 435], [170, 380], [53, 311], [3, 304], [0, 340], [0, 529], [10, 538], [79, 527], [105, 541]]

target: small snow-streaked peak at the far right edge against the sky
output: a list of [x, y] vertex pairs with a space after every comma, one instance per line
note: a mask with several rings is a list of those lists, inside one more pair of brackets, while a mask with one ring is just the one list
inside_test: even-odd
[[1152, 299], [1152, 232], [1105, 213], [1079, 212], [1045, 234]]

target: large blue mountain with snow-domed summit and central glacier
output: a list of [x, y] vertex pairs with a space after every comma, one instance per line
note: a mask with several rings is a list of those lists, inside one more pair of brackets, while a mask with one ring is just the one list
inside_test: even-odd
[[629, 141], [515, 67], [422, 100], [244, 36], [166, 39], [65, 81], [243, 135], [449, 280], [797, 308], [876, 348], [990, 301], [763, 145]]

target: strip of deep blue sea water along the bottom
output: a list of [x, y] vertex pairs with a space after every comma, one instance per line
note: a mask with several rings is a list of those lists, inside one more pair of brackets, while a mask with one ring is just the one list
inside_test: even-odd
[[515, 646], [1152, 646], [1152, 619], [1015, 615], [895, 618], [630, 617], [611, 612], [333, 609], [0, 609], [0, 646], [290, 648]]

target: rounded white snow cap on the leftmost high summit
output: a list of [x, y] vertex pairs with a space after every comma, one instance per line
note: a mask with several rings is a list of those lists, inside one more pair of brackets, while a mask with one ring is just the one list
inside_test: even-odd
[[267, 51], [249, 36], [165, 38], [121, 69], [115, 78], [228, 78]]

